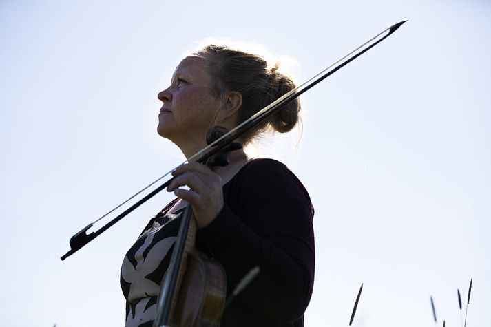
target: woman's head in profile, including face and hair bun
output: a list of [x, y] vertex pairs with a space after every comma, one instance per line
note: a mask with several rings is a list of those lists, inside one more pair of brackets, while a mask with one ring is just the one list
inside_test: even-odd
[[[176, 68], [171, 85], [158, 94], [163, 101], [158, 133], [176, 145], [204, 140], [213, 125], [233, 128], [295, 87], [279, 64], [269, 67], [261, 56], [225, 45], [206, 45]], [[267, 121], [242, 135], [249, 143], [265, 129], [285, 133], [297, 125], [295, 99]]]

